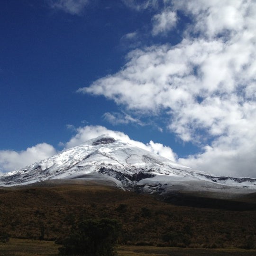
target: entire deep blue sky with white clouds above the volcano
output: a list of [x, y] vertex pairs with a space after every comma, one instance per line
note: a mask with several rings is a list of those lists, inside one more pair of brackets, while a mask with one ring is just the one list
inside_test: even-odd
[[255, 17], [250, 0], [1, 1], [0, 172], [115, 133], [256, 177]]

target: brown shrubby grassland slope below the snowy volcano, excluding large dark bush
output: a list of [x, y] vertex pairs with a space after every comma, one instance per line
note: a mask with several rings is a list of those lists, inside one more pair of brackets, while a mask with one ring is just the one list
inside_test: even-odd
[[120, 256], [256, 255], [256, 210], [178, 206], [94, 183], [2, 188], [0, 209], [0, 235], [11, 238], [0, 255], [56, 255], [74, 222], [101, 218], [122, 223]]

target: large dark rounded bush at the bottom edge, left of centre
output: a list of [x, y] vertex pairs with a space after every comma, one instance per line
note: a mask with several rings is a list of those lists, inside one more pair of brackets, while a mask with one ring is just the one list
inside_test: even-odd
[[73, 225], [59, 248], [60, 255], [115, 256], [120, 224], [114, 219], [87, 219]]

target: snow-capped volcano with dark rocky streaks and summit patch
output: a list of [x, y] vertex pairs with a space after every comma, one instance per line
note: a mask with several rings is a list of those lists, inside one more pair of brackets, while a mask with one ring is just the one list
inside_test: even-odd
[[109, 180], [124, 189], [168, 191], [185, 186], [216, 188], [222, 184], [256, 187], [256, 179], [215, 177], [192, 170], [120, 139], [101, 136], [80, 146], [0, 176], [0, 186], [54, 179]]

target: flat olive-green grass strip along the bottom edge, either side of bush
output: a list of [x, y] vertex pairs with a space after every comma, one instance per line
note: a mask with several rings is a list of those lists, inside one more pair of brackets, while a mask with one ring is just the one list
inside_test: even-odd
[[[4, 256], [57, 256], [58, 247], [53, 241], [11, 238], [0, 243], [0, 255]], [[119, 246], [118, 256], [255, 256], [256, 250], [236, 248], [205, 249], [153, 246]]]

